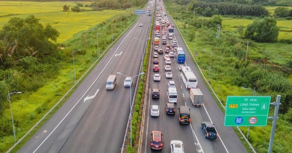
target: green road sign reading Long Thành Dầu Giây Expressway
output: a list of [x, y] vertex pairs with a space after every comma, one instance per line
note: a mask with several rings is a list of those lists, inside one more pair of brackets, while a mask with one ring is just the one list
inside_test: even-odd
[[270, 96], [227, 96], [224, 126], [266, 126]]

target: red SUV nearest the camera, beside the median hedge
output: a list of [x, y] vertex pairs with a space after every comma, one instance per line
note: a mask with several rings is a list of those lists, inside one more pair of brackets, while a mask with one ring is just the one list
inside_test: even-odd
[[163, 134], [161, 131], [152, 131], [150, 134], [150, 147], [154, 150], [163, 148]]

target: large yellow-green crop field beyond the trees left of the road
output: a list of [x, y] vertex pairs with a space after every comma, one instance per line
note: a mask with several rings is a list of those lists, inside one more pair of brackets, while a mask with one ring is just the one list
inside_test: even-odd
[[[90, 2], [81, 2], [90, 4]], [[103, 10], [92, 11], [90, 7], [83, 7], [85, 12], [63, 12], [64, 5], [75, 6], [74, 1], [0, 1], [0, 28], [7, 24], [10, 18], [34, 15], [40, 19], [44, 26], [51, 24], [60, 36], [57, 39], [61, 43], [73, 37], [78, 31], [87, 30], [98, 23], [105, 21], [107, 18], [121, 14], [120, 10]]]

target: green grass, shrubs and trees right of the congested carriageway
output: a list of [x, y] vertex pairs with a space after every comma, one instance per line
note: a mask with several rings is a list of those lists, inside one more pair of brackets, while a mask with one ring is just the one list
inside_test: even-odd
[[[271, 3], [277, 6], [272, 7]], [[212, 58], [210, 85], [223, 104], [227, 96], [252, 95], [254, 88], [256, 96], [271, 96], [272, 102], [276, 95], [281, 95], [272, 152], [289, 153], [292, 150], [287, 141], [292, 129], [292, 14], [289, 14], [292, 9], [287, 6], [292, 4], [271, 3], [164, 0], [205, 78], [209, 76]], [[267, 13], [263, 4], [273, 12]], [[247, 11], [245, 8], [258, 8], [253, 11], [264, 13], [245, 16], [232, 9], [238, 6], [244, 6], [242, 12]], [[269, 116], [273, 115], [274, 106], [271, 106]], [[272, 120], [268, 120], [265, 127], [250, 128], [249, 141], [257, 153], [267, 153], [271, 127]], [[247, 134], [247, 127], [240, 129]]]

